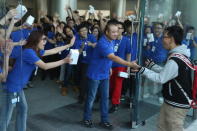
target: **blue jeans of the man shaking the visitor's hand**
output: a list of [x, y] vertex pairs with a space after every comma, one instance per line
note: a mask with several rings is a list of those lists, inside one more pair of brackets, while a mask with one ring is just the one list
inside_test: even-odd
[[100, 110], [101, 122], [108, 122], [108, 106], [109, 106], [109, 79], [92, 80], [88, 79], [88, 93], [85, 103], [84, 120], [92, 119], [92, 107], [97, 94], [100, 93]]

